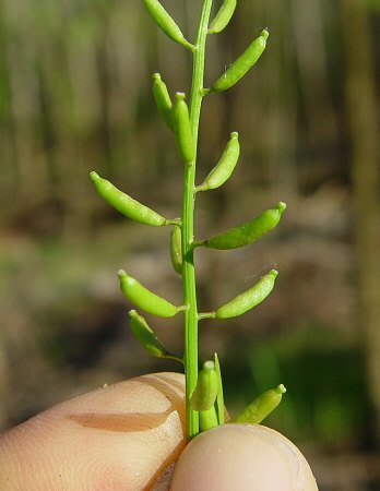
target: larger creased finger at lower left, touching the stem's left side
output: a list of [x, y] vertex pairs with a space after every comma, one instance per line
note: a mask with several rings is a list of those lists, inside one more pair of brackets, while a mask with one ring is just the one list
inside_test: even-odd
[[62, 403], [0, 436], [8, 491], [143, 490], [185, 446], [185, 380], [131, 379]]

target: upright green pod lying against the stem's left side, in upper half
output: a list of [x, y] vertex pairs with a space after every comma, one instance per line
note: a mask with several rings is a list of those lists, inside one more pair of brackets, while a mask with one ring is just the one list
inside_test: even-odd
[[177, 103], [174, 109], [174, 125], [176, 142], [180, 156], [187, 164], [194, 159], [194, 146], [190, 125], [189, 109], [185, 101], [186, 95], [177, 92]]

